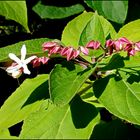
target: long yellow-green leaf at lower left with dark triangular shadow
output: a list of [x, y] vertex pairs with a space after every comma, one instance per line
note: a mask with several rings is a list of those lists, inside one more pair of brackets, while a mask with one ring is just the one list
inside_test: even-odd
[[48, 93], [48, 75], [25, 80], [0, 109], [0, 129], [8, 128], [40, 109]]

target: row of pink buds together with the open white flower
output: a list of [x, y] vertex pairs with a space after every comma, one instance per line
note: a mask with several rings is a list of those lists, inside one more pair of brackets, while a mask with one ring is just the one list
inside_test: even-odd
[[106, 41], [105, 47], [101, 46], [99, 41], [91, 40], [85, 46], [79, 46], [78, 49], [73, 48], [72, 46], [62, 46], [58, 42], [51, 41], [43, 43], [43, 51], [48, 52], [48, 57], [37, 57], [31, 56], [27, 59], [26, 57], [26, 46], [23, 45], [21, 48], [21, 59], [19, 59], [15, 54], [10, 53], [9, 57], [15, 62], [9, 66], [6, 71], [10, 73], [14, 78], [18, 78], [22, 73], [30, 74], [27, 64], [32, 63], [33, 68], [38, 67], [41, 64], [47, 64], [51, 55], [59, 54], [62, 57], [65, 57], [67, 61], [77, 58], [80, 53], [83, 55], [89, 54], [89, 49], [97, 50], [100, 47], [104, 50], [104, 56], [111, 55], [114, 52], [126, 51], [128, 56], [134, 56], [137, 51], [140, 51], [140, 42], [132, 42], [126, 39], [125, 37], [119, 38], [117, 40], [109, 39]]

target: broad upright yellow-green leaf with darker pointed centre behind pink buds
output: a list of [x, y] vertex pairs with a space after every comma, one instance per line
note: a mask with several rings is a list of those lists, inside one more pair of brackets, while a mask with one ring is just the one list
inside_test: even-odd
[[[116, 31], [105, 18], [92, 12], [84, 12], [67, 24], [61, 41], [67, 46], [78, 48], [91, 39], [98, 39], [103, 44], [109, 35], [115, 38]], [[81, 40], [84, 43], [81, 43]]]

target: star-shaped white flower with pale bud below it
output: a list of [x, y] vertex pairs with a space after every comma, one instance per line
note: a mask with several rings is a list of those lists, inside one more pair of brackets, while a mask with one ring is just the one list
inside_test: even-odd
[[25, 74], [30, 74], [27, 64], [30, 63], [36, 56], [31, 56], [27, 59], [26, 57], [26, 46], [25, 44], [21, 48], [21, 59], [19, 59], [15, 54], [9, 53], [9, 57], [16, 62], [16, 65], [10, 66], [6, 69], [8, 73], [11, 73], [14, 78], [19, 77], [22, 74], [22, 71]]

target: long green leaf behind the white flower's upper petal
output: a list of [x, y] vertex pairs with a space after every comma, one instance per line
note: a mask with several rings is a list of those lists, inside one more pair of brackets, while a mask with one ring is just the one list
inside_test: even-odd
[[9, 59], [8, 58], [9, 53], [14, 53], [17, 56], [21, 55], [20, 50], [23, 44], [26, 45], [27, 55], [34, 55], [34, 54], [41, 55], [43, 54], [42, 44], [49, 40], [50, 39], [48, 38], [32, 39], [32, 40], [21, 41], [13, 45], [0, 48], [0, 62], [7, 61]]

